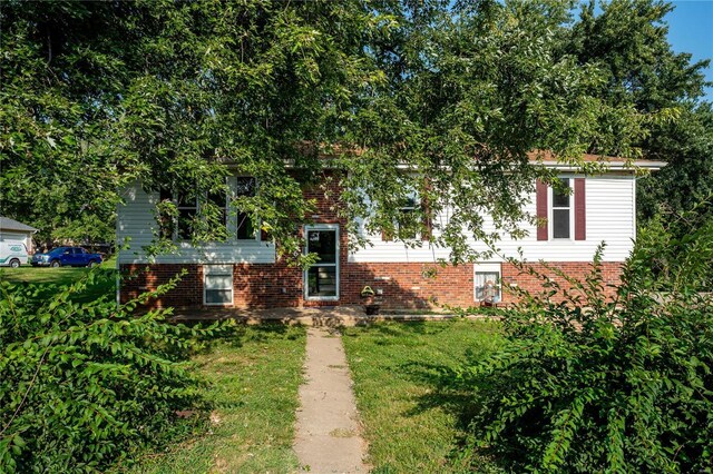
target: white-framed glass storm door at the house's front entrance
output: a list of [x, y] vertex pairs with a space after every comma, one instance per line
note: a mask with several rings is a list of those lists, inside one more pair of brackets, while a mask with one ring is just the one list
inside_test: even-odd
[[306, 299], [339, 299], [339, 225], [306, 226], [307, 254], [319, 259], [304, 271]]

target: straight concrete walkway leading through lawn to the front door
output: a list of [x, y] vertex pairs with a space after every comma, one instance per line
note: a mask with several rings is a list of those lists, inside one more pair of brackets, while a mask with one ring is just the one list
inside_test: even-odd
[[369, 472], [341, 337], [311, 327], [306, 353], [294, 442], [300, 464], [319, 474]]

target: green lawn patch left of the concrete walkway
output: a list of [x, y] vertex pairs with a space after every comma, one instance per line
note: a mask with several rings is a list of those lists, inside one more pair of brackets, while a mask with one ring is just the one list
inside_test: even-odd
[[195, 357], [215, 408], [203, 437], [143, 457], [131, 473], [299, 471], [292, 451], [305, 332], [262, 325]]

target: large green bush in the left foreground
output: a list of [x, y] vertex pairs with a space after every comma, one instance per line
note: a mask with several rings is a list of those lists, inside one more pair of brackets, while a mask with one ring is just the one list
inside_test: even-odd
[[0, 472], [102, 471], [189, 428], [176, 411], [199, 402], [201, 382], [185, 359], [212, 329], [135, 314], [175, 282], [123, 306], [113, 293], [82, 298], [101, 278], [114, 276], [0, 283]]

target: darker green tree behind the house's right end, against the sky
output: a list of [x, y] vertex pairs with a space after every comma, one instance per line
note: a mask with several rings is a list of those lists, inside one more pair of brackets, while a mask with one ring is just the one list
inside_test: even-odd
[[666, 38], [672, 3], [613, 0], [600, 7], [599, 14], [594, 1], [582, 9], [566, 51], [580, 65], [597, 63], [606, 71], [597, 95], [611, 103], [668, 111], [667, 120], [645, 124], [636, 144], [645, 158], [668, 162], [641, 181], [638, 216], [649, 219], [661, 205], [691, 209], [713, 189], [713, 120], [711, 105], [703, 100], [710, 60], [692, 62], [690, 53], [672, 50]]

